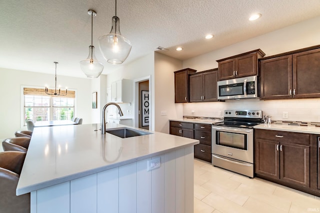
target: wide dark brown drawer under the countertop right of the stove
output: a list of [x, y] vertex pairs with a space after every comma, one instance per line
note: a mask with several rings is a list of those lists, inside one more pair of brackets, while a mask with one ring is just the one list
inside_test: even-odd
[[274, 130], [255, 129], [255, 138], [301, 145], [309, 145], [310, 142], [309, 134]]

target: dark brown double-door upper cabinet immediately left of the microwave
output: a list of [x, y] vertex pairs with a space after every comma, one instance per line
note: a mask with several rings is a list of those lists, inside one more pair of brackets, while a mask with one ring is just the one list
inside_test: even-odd
[[189, 75], [189, 102], [217, 101], [217, 68]]

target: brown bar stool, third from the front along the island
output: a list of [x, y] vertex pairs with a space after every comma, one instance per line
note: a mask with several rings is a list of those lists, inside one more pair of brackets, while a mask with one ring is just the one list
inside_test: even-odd
[[17, 137], [7, 138], [2, 141], [3, 151], [26, 152], [30, 144], [30, 138]]

